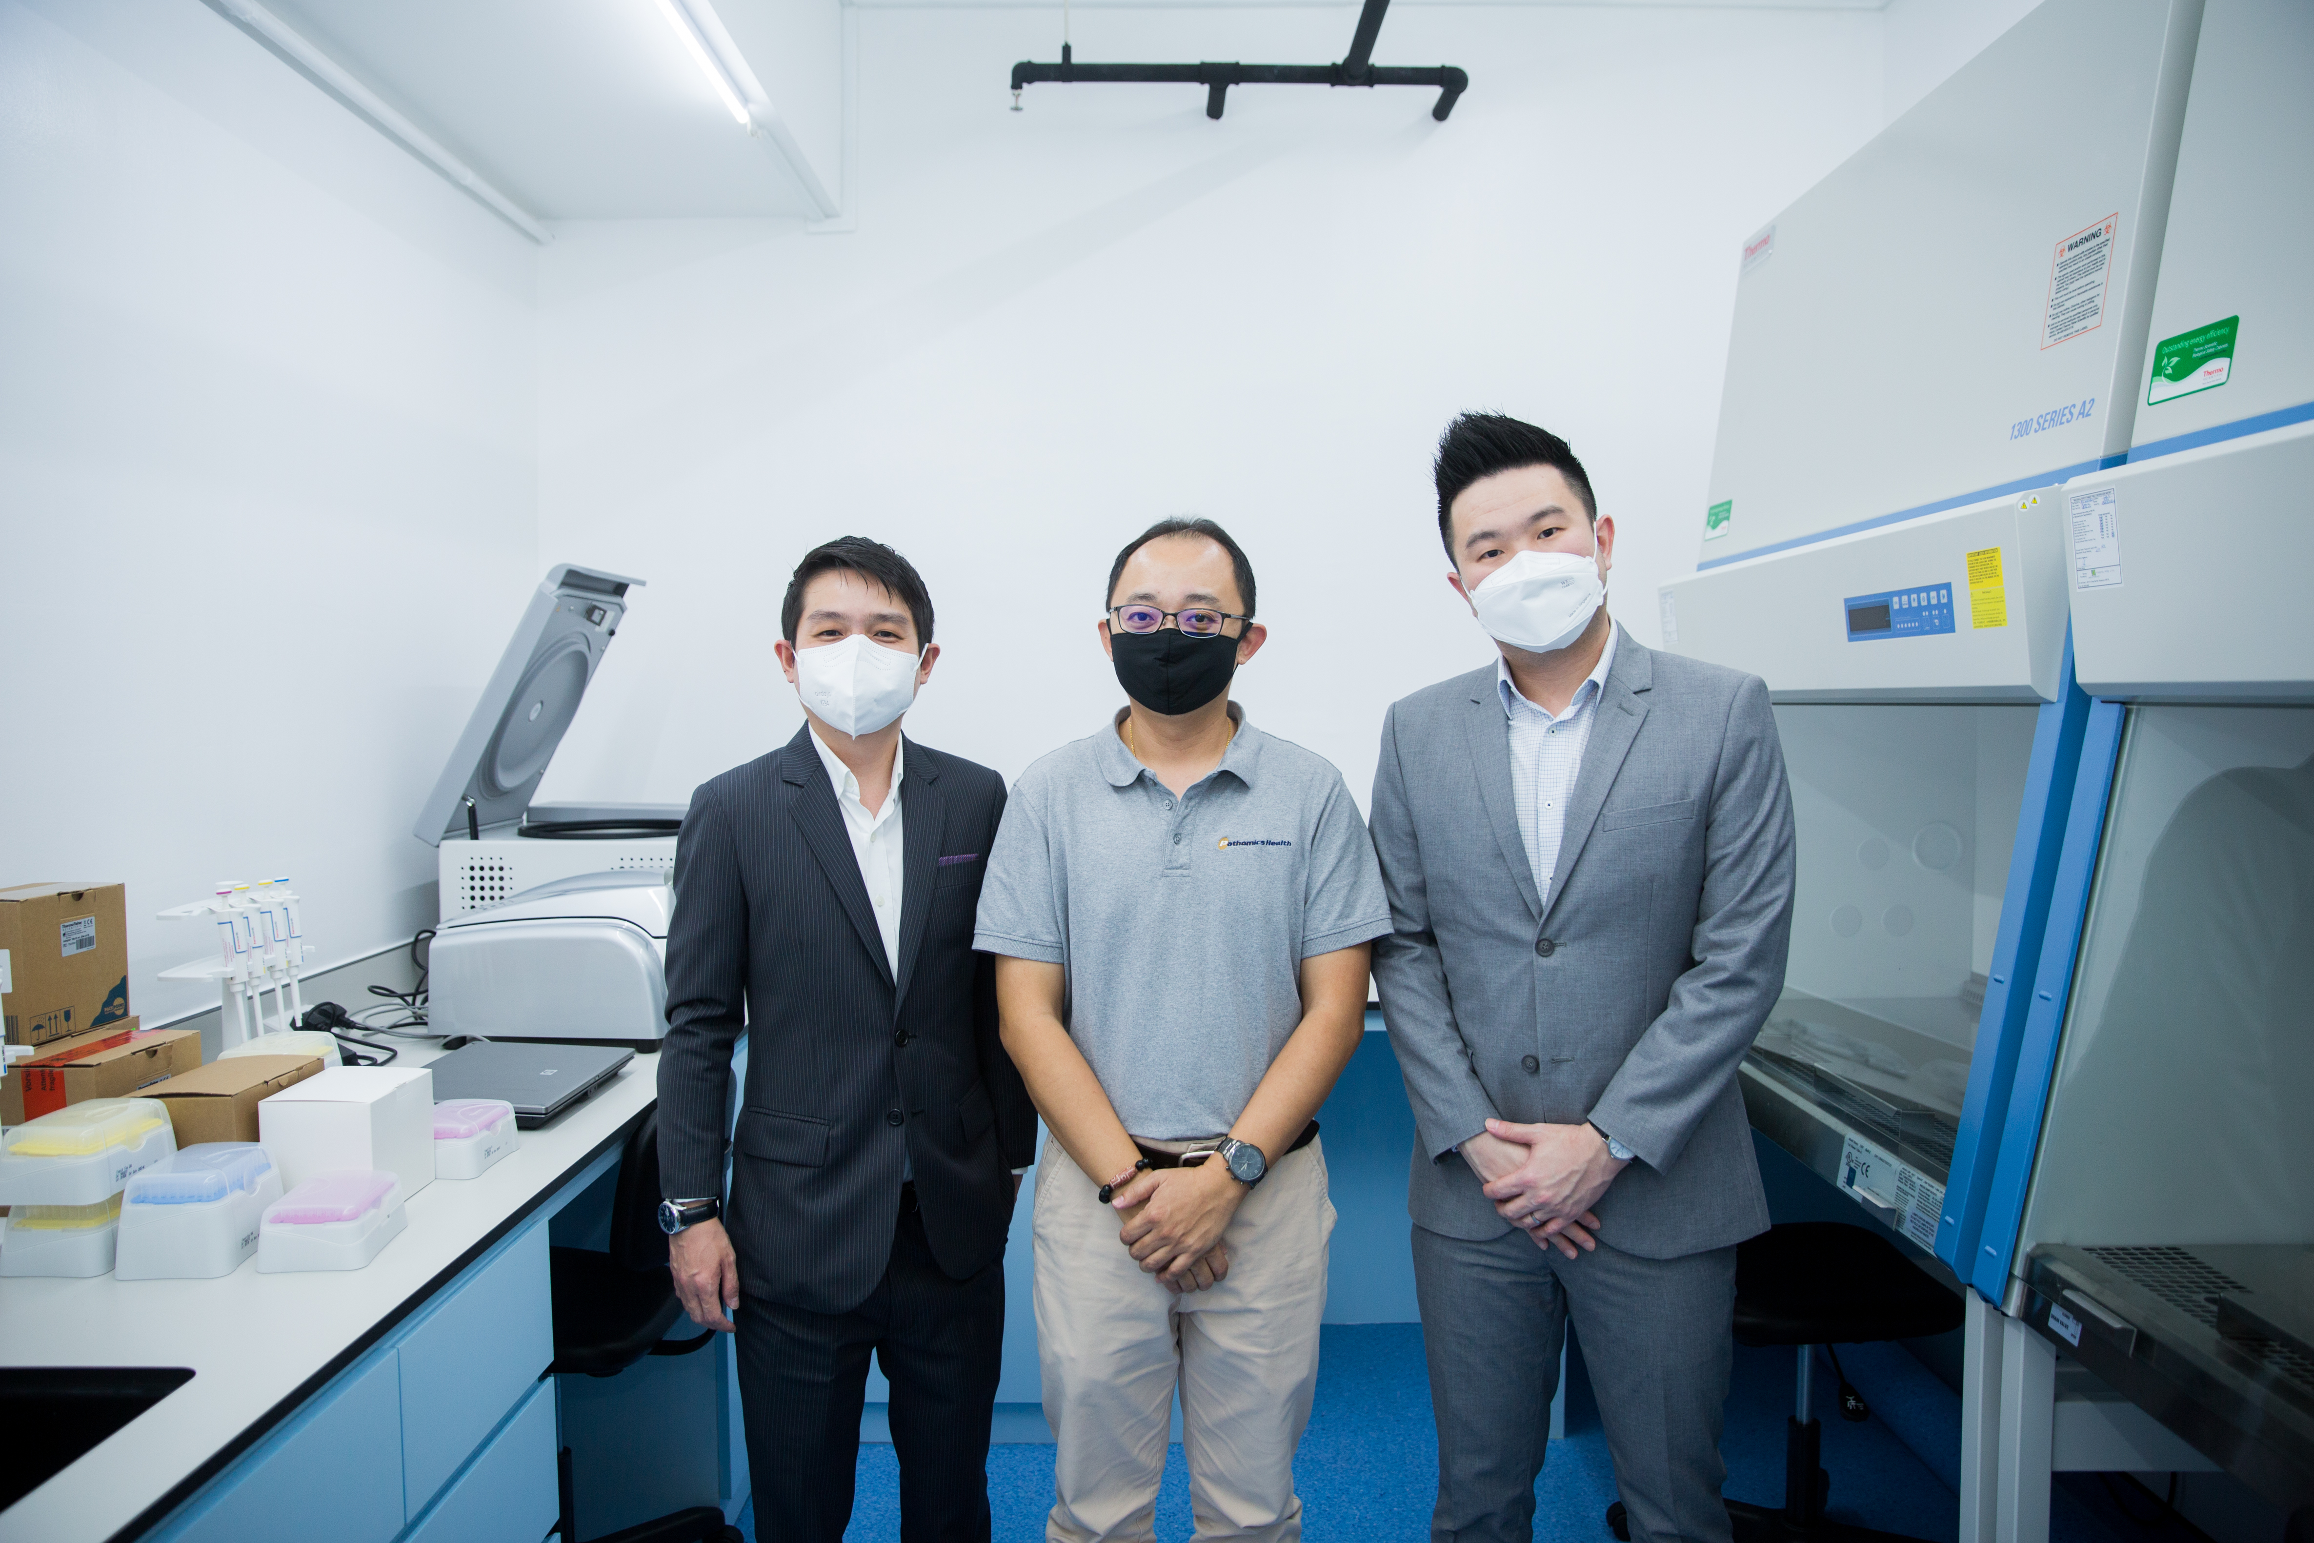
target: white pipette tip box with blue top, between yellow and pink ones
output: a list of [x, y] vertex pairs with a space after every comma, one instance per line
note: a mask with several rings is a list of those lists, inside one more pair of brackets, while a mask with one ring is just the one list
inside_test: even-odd
[[282, 1198], [282, 1175], [255, 1140], [180, 1147], [130, 1180], [120, 1196], [113, 1275], [215, 1279], [257, 1254], [257, 1224]]

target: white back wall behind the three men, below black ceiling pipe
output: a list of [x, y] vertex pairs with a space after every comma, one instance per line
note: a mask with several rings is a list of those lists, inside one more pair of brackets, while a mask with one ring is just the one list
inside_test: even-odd
[[[1076, 56], [1335, 58], [1344, 9], [1078, 12]], [[1115, 548], [1247, 546], [1238, 696], [1358, 791], [1381, 708], [1483, 664], [1430, 446], [1465, 407], [1564, 433], [1657, 638], [1689, 562], [1738, 245], [1881, 123], [1874, 14], [1418, 7], [1430, 93], [1034, 86], [1051, 12], [858, 14], [858, 234], [567, 227], [541, 257], [541, 555], [650, 581], [541, 796], [683, 798], [784, 740], [778, 599], [863, 532], [946, 657], [909, 724], [1016, 775], [1120, 701]]]

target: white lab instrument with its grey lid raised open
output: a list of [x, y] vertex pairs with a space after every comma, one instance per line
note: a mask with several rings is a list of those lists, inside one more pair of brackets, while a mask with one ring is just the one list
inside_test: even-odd
[[565, 562], [532, 592], [419, 812], [419, 840], [440, 849], [444, 921], [572, 874], [673, 868], [683, 805], [530, 803], [641, 583]]

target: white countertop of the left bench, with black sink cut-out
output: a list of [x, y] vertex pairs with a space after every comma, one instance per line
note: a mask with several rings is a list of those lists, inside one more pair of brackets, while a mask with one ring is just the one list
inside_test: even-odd
[[[396, 1066], [435, 1055], [430, 1041], [403, 1041]], [[0, 1279], [0, 1365], [194, 1372], [0, 1513], [0, 1541], [111, 1538], [220, 1453], [243, 1450], [292, 1413], [278, 1409], [285, 1400], [319, 1390], [449, 1284], [509, 1217], [553, 1196], [657, 1097], [657, 1083], [659, 1057], [636, 1055], [555, 1124], [523, 1131], [521, 1147], [481, 1177], [435, 1180], [410, 1198], [407, 1231], [366, 1270], [259, 1275], [250, 1258], [208, 1282]]]

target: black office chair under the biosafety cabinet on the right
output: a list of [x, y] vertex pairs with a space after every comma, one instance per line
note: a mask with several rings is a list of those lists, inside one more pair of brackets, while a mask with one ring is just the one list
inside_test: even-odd
[[[1881, 1233], [1844, 1221], [1786, 1221], [1736, 1249], [1736, 1342], [1791, 1344], [1800, 1351], [1796, 1409], [1784, 1420], [1784, 1506], [1731, 1499], [1736, 1543], [1916, 1543], [1893, 1531], [1830, 1522], [1823, 1497], [1823, 1427], [1810, 1411], [1816, 1346], [1872, 1339], [1921, 1339], [1960, 1328], [1962, 1302], [1914, 1265]], [[1840, 1360], [1833, 1360], [1840, 1369]], [[1840, 1379], [1840, 1413], [1863, 1420], [1865, 1407]], [[1622, 1501], [1606, 1511], [1608, 1529], [1629, 1543]]]

